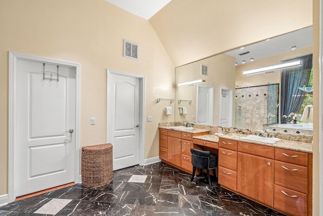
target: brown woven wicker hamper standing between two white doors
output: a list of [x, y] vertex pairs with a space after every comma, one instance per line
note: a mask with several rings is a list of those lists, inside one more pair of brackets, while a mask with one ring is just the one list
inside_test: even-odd
[[82, 185], [97, 188], [113, 179], [112, 144], [82, 147]]

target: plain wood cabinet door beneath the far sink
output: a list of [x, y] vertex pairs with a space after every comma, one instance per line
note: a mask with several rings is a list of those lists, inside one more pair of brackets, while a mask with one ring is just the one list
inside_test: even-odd
[[167, 161], [174, 165], [181, 166], [182, 140], [174, 137], [168, 137]]

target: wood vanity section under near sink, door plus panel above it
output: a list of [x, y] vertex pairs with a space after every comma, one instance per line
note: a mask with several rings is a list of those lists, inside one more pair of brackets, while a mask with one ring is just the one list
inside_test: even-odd
[[238, 142], [237, 191], [274, 207], [274, 147]]

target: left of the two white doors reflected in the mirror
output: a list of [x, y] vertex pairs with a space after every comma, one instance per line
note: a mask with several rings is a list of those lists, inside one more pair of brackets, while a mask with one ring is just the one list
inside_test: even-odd
[[196, 122], [213, 124], [213, 87], [197, 85]]

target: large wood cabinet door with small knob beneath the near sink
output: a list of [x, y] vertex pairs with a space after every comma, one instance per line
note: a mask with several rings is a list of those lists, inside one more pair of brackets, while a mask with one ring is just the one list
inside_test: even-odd
[[237, 191], [274, 206], [274, 160], [238, 152]]

